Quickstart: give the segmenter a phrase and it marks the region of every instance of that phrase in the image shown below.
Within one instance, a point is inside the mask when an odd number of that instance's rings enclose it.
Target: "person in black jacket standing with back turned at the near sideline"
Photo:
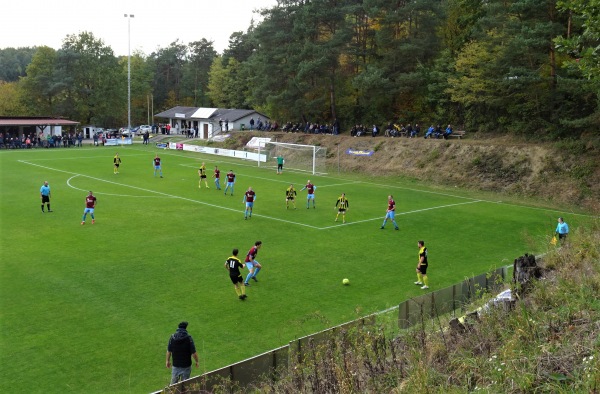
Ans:
[[[171,384],[190,378],[192,373],[192,357],[198,368],[198,353],[194,340],[187,332],[188,323],[179,323],[177,331],[169,338],[167,346],[167,368],[171,368],[171,356],[173,356],[173,370],[171,372]]]

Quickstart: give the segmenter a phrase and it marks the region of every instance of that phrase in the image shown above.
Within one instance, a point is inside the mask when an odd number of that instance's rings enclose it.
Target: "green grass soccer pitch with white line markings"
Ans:
[[[164,178],[153,176],[157,153]],[[210,189],[198,188],[202,162]],[[4,392],[158,390],[169,382],[166,345],[182,320],[200,354],[195,376],[421,294],[413,284],[420,239],[436,290],[545,251],[558,216],[571,229],[590,220],[401,178],[276,175],[248,161],[142,145],[2,151],[0,165]],[[223,189],[225,173],[235,172],[234,196],[215,190],[215,165]],[[316,209],[300,191],[308,179]],[[45,180],[52,213],[40,210]],[[285,207],[290,183],[296,210]],[[248,187],[257,199],[244,220]],[[82,226],[89,190],[96,223],[88,217]],[[342,192],[346,224],[334,222]],[[380,229],[389,194],[399,231]],[[240,301],[223,264],[256,240],[263,269]]]

